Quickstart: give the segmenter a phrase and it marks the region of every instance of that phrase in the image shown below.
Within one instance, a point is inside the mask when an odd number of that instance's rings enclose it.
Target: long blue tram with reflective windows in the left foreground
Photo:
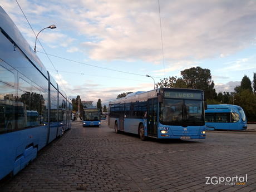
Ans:
[[[72,102],[0,6],[0,180],[71,128]]]

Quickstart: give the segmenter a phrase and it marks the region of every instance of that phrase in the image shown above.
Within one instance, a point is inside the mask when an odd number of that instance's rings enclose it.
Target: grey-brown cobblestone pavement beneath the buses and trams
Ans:
[[[75,122],[0,191],[256,191],[255,139],[218,131],[205,140],[141,141],[106,121]]]

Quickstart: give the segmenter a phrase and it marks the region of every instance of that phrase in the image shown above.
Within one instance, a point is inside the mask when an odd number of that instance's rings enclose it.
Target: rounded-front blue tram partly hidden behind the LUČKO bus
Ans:
[[[242,107],[237,105],[208,105],[205,110],[206,130],[245,130],[247,120]]]

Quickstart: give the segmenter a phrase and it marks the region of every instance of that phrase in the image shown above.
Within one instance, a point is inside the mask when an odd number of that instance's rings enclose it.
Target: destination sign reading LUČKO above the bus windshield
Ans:
[[[173,98],[173,99],[201,99],[201,92],[184,92],[184,91],[165,91],[165,98]]]

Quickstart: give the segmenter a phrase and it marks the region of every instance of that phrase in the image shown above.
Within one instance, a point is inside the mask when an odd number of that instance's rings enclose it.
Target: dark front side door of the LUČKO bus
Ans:
[[[158,99],[147,101],[147,135],[157,137],[157,108]]]

